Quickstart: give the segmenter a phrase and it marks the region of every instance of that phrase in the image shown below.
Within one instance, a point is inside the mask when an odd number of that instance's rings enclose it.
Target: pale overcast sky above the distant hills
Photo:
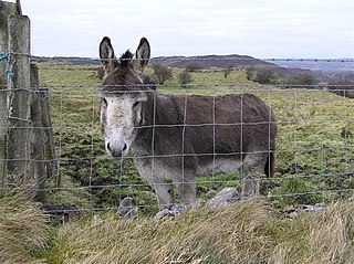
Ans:
[[[152,55],[354,57],[352,0],[22,0],[33,55],[97,57],[142,36]]]

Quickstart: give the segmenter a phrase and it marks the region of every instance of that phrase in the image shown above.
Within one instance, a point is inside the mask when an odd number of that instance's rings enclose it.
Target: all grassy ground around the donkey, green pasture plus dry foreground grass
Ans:
[[[353,99],[262,86],[247,81],[242,71],[228,78],[221,72],[192,73],[191,86],[170,81],[158,87],[164,94],[258,94],[274,109],[279,135],[275,176],[262,180],[262,200],[189,210],[157,222],[152,218],[158,210],[155,196],[133,162],[105,156],[95,66],[39,67],[41,86],[50,91],[62,178],[49,199],[75,204],[83,213],[52,225],[25,196],[1,197],[0,263],[354,263],[354,204],[347,201],[354,189]],[[202,177],[197,184],[205,199],[226,186],[240,188],[238,175]],[[121,219],[114,210],[125,197],[140,207],[135,220]],[[330,207],[295,219],[279,210],[317,202]]]

